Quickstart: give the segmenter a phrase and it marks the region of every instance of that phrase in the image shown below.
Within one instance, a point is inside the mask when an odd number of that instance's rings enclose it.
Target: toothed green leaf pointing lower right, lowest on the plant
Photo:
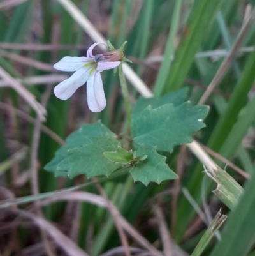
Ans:
[[[134,156],[148,157],[143,162],[137,162],[130,170],[134,181],[141,181],[145,186],[150,182],[157,184],[167,179],[178,179],[178,175],[166,164],[166,156],[161,156],[156,151],[156,147],[145,147],[140,145],[134,152]]]

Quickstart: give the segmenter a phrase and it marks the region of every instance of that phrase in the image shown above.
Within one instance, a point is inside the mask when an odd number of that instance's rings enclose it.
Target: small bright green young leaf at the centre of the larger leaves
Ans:
[[[113,152],[104,152],[104,156],[115,163],[121,163],[122,165],[126,165],[130,163],[133,158],[133,153],[130,151],[126,151],[125,149],[122,149],[122,147],[117,147],[116,151]]]

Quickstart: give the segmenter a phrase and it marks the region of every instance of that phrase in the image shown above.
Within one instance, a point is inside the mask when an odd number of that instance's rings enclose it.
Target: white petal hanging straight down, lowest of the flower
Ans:
[[[94,72],[87,80],[87,102],[92,112],[105,109],[106,99],[100,72]]]

